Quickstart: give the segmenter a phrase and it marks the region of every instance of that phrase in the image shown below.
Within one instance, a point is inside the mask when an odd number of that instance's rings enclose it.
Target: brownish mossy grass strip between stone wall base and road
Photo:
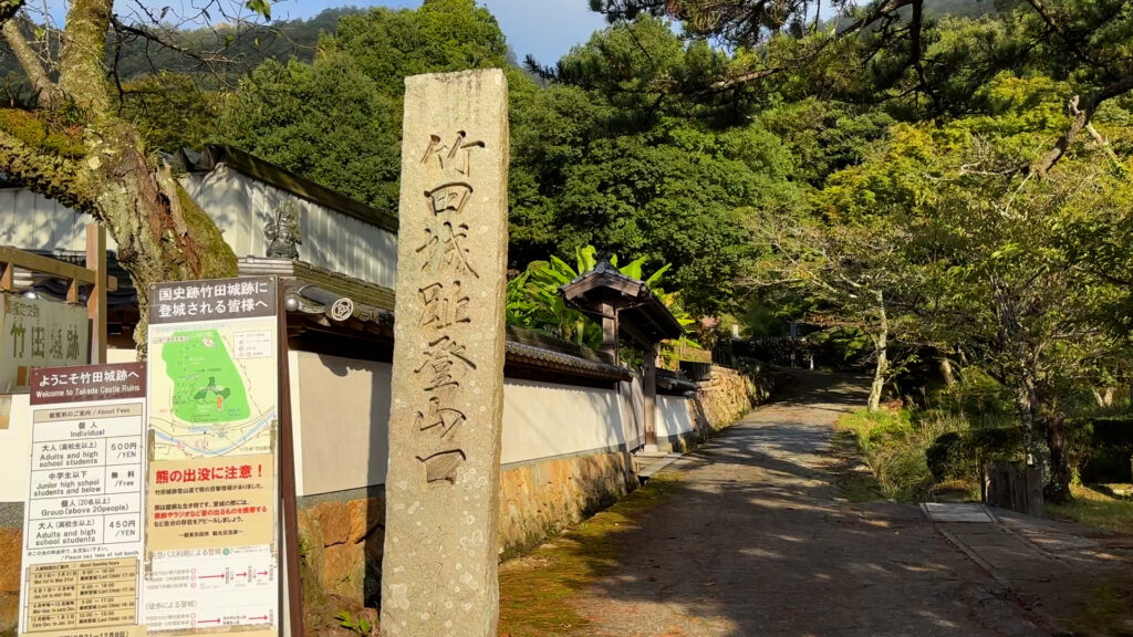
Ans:
[[[568,600],[625,558],[619,538],[675,489],[676,476],[653,477],[613,507],[500,569],[500,634],[511,637],[587,635]]]

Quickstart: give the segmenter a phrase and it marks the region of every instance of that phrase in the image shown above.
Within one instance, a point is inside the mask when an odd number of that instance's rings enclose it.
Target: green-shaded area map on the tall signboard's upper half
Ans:
[[[154,460],[270,453],[274,318],[153,325]]]

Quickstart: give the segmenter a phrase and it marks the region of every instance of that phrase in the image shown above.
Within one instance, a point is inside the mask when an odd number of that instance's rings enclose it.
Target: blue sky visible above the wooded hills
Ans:
[[[553,65],[574,44],[586,42],[605,18],[591,12],[587,0],[479,0],[500,22],[508,44],[522,61],[528,53],[542,65]],[[323,9],[342,6],[416,8],[420,0],[280,0],[274,18],[309,18]]]

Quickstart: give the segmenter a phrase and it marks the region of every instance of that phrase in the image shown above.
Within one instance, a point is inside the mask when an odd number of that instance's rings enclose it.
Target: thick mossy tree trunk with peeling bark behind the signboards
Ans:
[[[236,255],[135,127],[113,112],[103,66],[112,0],[73,0],[58,80],[36,82],[39,108],[0,109],[0,171],[29,189],[90,213],[118,243],[138,292],[135,332],[145,356],[148,289],[160,281],[236,274]],[[23,2],[0,1],[0,20]],[[5,28],[11,49],[19,29]],[[17,57],[19,58],[19,57]],[[39,63],[19,58],[25,66]],[[41,67],[28,77],[46,77]]]

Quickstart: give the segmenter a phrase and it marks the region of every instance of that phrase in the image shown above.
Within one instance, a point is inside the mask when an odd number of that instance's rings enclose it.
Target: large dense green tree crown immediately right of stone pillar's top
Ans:
[[[594,244],[672,263],[693,312],[735,306],[758,253],[750,220],[790,213],[801,196],[778,135],[725,117],[715,99],[680,97],[726,63],[653,18],[565,56],[556,83],[514,116],[513,263]]]

